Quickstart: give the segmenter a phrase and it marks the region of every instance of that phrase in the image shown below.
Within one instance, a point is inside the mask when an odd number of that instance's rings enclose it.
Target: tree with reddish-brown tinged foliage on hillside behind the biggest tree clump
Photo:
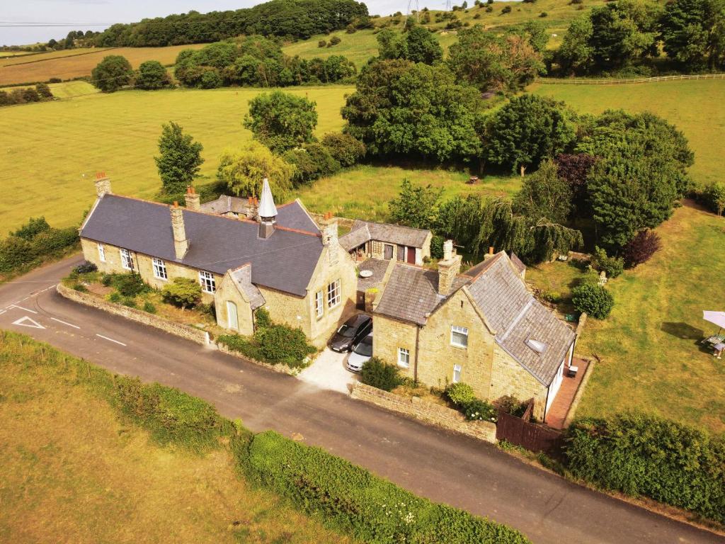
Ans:
[[[546,71],[532,36],[526,30],[498,35],[480,25],[460,30],[448,65],[481,91],[518,91]]]

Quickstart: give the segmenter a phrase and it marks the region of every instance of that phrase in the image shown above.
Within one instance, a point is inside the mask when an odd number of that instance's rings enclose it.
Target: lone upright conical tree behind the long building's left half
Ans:
[[[159,137],[159,156],[154,157],[161,178],[162,191],[167,195],[180,194],[199,175],[204,159],[204,146],[183,133],[181,125],[170,121],[162,125]]]

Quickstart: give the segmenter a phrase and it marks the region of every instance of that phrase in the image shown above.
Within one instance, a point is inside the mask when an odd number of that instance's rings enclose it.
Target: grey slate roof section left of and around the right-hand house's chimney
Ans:
[[[468,281],[471,279],[457,276],[450,294],[444,297],[438,294],[437,271],[396,263],[375,312],[425,325],[428,314]]]

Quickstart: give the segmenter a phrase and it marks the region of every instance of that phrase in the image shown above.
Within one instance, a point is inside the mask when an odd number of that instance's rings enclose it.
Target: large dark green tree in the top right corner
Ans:
[[[688,70],[725,65],[725,0],[673,0],[660,18],[663,48]]]

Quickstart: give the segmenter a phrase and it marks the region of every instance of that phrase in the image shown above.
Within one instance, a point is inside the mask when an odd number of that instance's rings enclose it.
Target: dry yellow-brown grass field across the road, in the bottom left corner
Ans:
[[[0,541],[347,543],[240,480],[231,456],[161,448],[37,347],[0,339]],[[83,380],[80,380],[81,382]]]

